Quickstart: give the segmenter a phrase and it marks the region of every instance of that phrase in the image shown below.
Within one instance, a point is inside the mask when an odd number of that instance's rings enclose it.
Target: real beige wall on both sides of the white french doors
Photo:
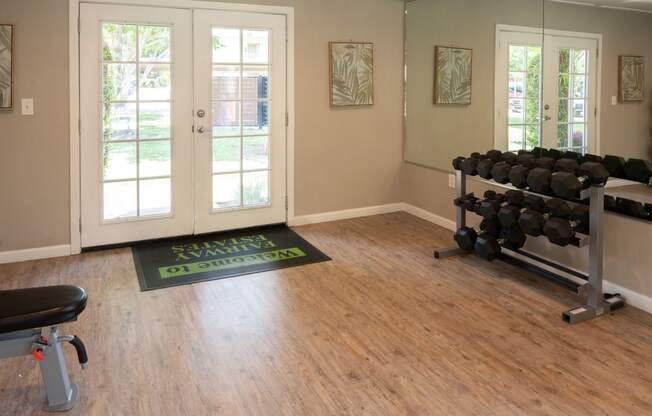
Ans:
[[[399,0],[247,1],[295,7],[296,215],[399,202],[403,4]],[[0,0],[16,24],[16,98],[0,114],[0,251],[69,242],[68,2]],[[375,104],[332,109],[328,42],[375,44]]]

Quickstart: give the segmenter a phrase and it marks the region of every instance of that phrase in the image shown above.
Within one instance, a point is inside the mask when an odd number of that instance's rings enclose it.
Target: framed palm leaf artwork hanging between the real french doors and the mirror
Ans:
[[[374,103],[373,54],[372,43],[330,43],[331,105]]]

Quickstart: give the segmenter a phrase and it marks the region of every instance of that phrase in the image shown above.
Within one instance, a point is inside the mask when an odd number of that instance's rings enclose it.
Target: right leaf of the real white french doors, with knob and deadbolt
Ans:
[[[285,17],[195,10],[195,232],[285,221]]]

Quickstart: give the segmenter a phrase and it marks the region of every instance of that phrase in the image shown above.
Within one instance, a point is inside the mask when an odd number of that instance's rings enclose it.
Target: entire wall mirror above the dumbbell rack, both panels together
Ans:
[[[583,4],[586,3],[586,4]],[[405,160],[535,146],[652,159],[652,4],[405,2]]]

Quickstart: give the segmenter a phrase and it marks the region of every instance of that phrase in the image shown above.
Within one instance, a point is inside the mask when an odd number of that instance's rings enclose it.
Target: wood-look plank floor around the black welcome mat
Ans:
[[[297,228],[326,263],[140,292],[129,249],[0,266],[0,289],[76,284],[77,415],[652,414],[652,315],[578,326],[577,300],[474,256],[408,214]],[[40,414],[28,357],[0,364],[0,414]]]

